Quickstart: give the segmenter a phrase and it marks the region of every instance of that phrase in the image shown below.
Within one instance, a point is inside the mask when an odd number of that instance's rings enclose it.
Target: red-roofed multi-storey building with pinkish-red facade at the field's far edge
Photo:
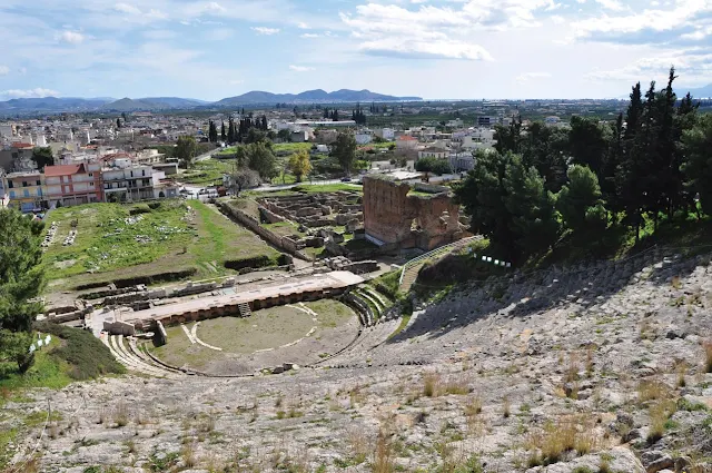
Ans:
[[[103,200],[99,162],[46,166],[44,186],[50,208]]]

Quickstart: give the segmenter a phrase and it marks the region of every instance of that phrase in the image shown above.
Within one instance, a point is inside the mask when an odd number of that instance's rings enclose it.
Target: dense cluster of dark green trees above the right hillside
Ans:
[[[479,152],[455,187],[473,231],[521,258],[568,234],[594,245],[623,226],[637,240],[646,220],[654,231],[662,219],[712,215],[712,117],[699,116],[690,95],[678,100],[675,79],[671,68],[662,89],[636,83],[609,124],[574,116],[565,131],[516,117],[497,126],[496,151]]]

